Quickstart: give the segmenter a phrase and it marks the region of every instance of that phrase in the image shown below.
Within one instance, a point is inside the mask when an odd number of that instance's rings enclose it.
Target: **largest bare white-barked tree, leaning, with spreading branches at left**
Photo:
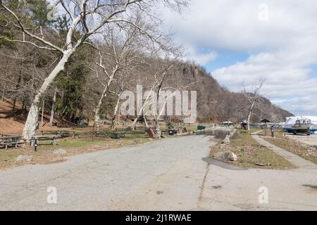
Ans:
[[[135,24],[134,20],[127,19],[127,14],[135,13],[135,11],[148,11],[151,15],[151,6],[154,6],[157,1],[153,0],[118,0],[118,1],[102,1],[102,0],[59,0],[57,5],[66,12],[70,19],[70,24],[67,27],[67,35],[63,40],[63,46],[54,44],[44,37],[42,27],[27,27],[23,23],[23,19],[18,16],[18,13],[9,8],[9,2],[1,0],[0,6],[11,15],[8,17],[8,24],[13,25],[13,29],[19,29],[23,34],[22,39],[9,39],[1,36],[7,41],[20,42],[30,44],[38,49],[46,49],[49,51],[57,51],[61,54],[55,68],[51,70],[49,75],[44,79],[42,86],[38,89],[35,98],[32,101],[27,121],[23,129],[25,139],[30,139],[35,134],[36,124],[39,115],[39,104],[47,89],[54,82],[58,73],[63,71],[69,58],[82,46],[82,44],[91,44],[89,37],[99,32],[101,27],[106,24],[115,23],[118,25],[130,24],[135,25],[137,29],[143,32],[142,27]],[[186,1],[182,0],[163,0],[163,3],[180,9],[186,5]],[[129,18],[129,17],[128,17]],[[132,17],[130,17],[132,18]]]

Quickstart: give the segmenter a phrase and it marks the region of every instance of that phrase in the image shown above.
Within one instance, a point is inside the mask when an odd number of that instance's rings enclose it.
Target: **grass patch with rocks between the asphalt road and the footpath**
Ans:
[[[273,150],[260,146],[251,136],[251,131],[238,131],[239,134],[231,139],[230,144],[218,143],[211,148],[211,157],[217,152],[231,151],[237,155],[237,162],[232,162],[240,167],[266,168],[266,169],[292,169],[294,166],[275,154]],[[263,165],[263,166],[259,166]]]

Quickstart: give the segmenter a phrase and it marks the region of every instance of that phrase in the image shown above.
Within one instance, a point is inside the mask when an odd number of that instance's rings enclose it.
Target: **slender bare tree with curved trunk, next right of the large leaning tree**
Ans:
[[[100,111],[109,89],[118,75],[122,72],[133,70],[135,65],[142,60],[142,34],[135,26],[107,27],[103,33],[104,43],[99,49],[99,61],[95,64],[96,77],[103,86],[102,94],[94,114],[94,130],[99,131]],[[126,77],[121,76],[121,79]],[[123,84],[121,82],[121,84]]]

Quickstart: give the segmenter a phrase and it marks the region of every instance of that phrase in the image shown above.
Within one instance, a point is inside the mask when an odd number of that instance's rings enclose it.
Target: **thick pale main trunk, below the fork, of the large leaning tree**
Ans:
[[[61,60],[58,62],[58,64],[56,65],[54,70],[51,72],[49,77],[47,77],[44,80],[44,83],[42,84],[41,88],[37,92],[32,102],[32,105],[30,107],[29,113],[27,115],[27,120],[25,122],[25,126],[23,129],[23,137],[25,139],[30,140],[32,135],[35,135],[36,125],[39,118],[39,103],[41,102],[41,98],[46,93],[46,90],[54,81],[58,73],[64,70],[66,63],[68,62],[68,59],[74,52],[75,52],[75,49],[69,49],[68,51],[64,53]]]

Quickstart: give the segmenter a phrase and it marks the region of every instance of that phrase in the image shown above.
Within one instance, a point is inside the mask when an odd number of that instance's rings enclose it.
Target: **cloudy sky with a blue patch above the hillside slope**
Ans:
[[[263,94],[295,115],[317,115],[316,0],[192,0],[164,11],[187,59],[231,91],[266,79]]]

